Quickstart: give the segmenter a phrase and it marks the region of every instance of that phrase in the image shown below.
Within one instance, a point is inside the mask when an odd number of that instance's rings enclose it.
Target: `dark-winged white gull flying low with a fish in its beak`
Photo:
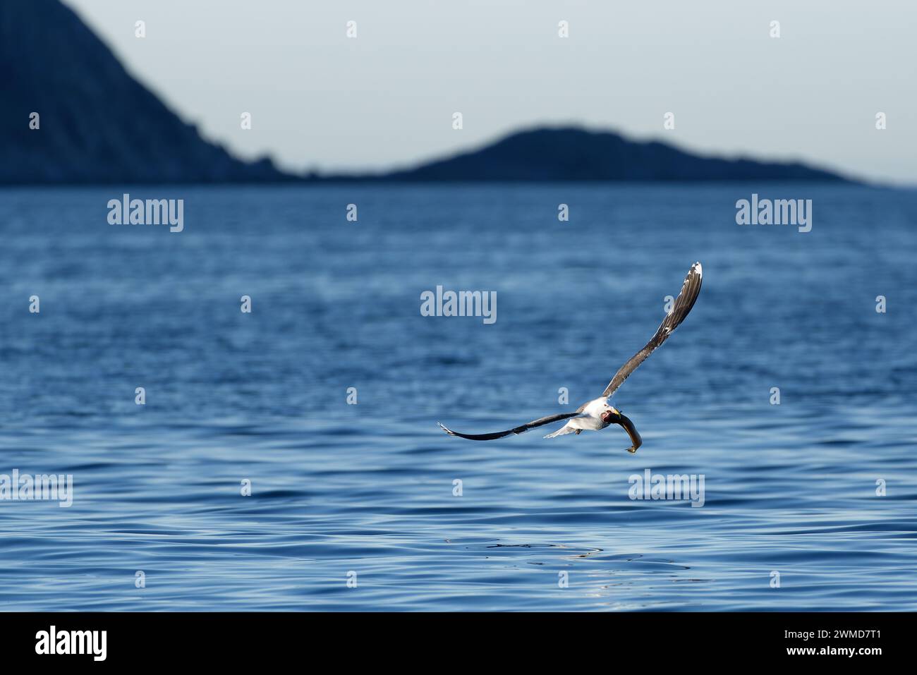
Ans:
[[[599,431],[606,426],[614,424],[624,428],[624,431],[627,432],[627,436],[630,437],[631,447],[627,448],[627,451],[636,452],[636,448],[643,445],[643,439],[640,437],[640,434],[637,433],[634,423],[623,415],[620,410],[609,405],[608,399],[611,398],[612,394],[621,386],[622,382],[636,370],[636,367],[643,363],[659,345],[668,339],[672,331],[675,330],[675,328],[684,321],[685,316],[691,312],[691,307],[694,306],[698,294],[701,293],[702,275],[703,269],[700,262],[695,262],[691,265],[691,270],[688,271],[688,276],[685,277],[684,283],[681,284],[681,291],[679,292],[679,296],[675,299],[675,304],[672,305],[671,312],[662,320],[662,324],[659,326],[656,334],[650,338],[643,349],[640,349],[640,351],[618,369],[612,378],[612,382],[608,383],[608,386],[605,387],[605,391],[602,392],[599,398],[592,399],[580,405],[576,412],[547,415],[547,417],[541,417],[525,425],[516,426],[506,431],[497,431],[492,434],[460,434],[458,431],[453,431],[439,422],[436,422],[436,424],[449,436],[470,438],[470,440],[494,440],[496,438],[524,434],[529,429],[534,429],[537,426],[549,425],[552,422],[559,422],[564,419],[567,420],[567,424],[561,426],[553,434],[548,434],[546,438],[554,438],[566,434],[580,434],[585,430]]]

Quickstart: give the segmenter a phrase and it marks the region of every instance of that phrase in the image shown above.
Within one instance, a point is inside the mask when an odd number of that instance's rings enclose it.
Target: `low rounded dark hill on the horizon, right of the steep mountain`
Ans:
[[[329,177],[346,180],[348,177]],[[349,180],[435,181],[812,181],[844,182],[799,162],[702,157],[658,141],[579,127],[535,128],[414,169]]]

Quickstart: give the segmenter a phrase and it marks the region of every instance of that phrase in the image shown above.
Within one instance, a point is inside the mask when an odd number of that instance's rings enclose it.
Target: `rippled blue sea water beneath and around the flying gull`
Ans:
[[[122,192],[0,192],[0,474],[73,477],[69,508],[0,501],[3,609],[917,609],[917,194],[131,187],[185,200],[173,234],[108,225]],[[736,225],[752,193],[812,231]],[[613,399],[636,454],[436,427],[598,396],[694,260]],[[496,322],[421,315],[437,285]],[[702,507],[632,500],[647,469]]]

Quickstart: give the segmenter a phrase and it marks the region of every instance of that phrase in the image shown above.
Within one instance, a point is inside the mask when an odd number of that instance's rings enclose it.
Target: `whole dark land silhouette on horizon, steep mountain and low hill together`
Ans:
[[[702,157],[579,127],[520,131],[413,169],[296,175],[201,138],[60,0],[0,3],[0,36],[0,184],[849,180],[799,162]]]

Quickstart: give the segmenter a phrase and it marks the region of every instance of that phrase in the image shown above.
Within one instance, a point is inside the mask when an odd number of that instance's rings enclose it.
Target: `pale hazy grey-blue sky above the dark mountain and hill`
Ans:
[[[574,122],[917,183],[911,0],[66,4],[206,138],[295,170],[406,165]]]

